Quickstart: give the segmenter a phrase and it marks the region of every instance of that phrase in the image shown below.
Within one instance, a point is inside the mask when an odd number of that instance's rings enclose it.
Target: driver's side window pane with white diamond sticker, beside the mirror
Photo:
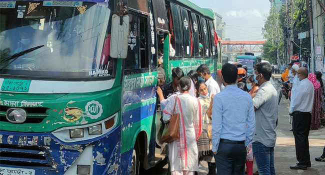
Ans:
[[[138,17],[131,13],[128,13],[128,16],[130,18],[130,22],[129,22],[130,33],[128,35],[128,49],[127,49],[127,57],[124,62],[124,68],[125,69],[139,68]]]

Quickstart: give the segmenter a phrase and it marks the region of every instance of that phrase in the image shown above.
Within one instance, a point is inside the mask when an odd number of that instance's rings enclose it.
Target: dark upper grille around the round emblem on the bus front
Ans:
[[[5,113],[10,108],[9,106],[0,105],[0,121],[9,122]],[[40,123],[47,117],[46,107],[20,107],[27,111],[26,121],[24,123]]]

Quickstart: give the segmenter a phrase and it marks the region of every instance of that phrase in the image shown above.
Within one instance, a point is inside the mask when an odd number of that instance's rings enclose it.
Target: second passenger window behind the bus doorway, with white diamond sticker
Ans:
[[[184,33],[184,55],[190,56],[191,55],[191,45],[190,45],[190,31],[189,31],[189,20],[188,20],[188,13],[187,10],[183,7],[180,8],[181,10],[181,19],[183,22],[183,33]]]

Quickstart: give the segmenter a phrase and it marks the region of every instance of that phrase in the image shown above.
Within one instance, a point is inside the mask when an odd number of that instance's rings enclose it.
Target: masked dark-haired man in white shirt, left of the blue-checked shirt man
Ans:
[[[210,97],[212,94],[217,94],[220,92],[220,87],[218,83],[212,78],[210,73],[210,68],[206,64],[201,64],[196,69],[197,72],[197,80],[205,81],[207,92]]]

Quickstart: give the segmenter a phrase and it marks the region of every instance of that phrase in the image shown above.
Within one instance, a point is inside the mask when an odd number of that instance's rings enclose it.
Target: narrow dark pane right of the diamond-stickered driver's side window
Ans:
[[[140,64],[141,68],[149,67],[147,48],[147,18],[139,17],[140,19]]]

